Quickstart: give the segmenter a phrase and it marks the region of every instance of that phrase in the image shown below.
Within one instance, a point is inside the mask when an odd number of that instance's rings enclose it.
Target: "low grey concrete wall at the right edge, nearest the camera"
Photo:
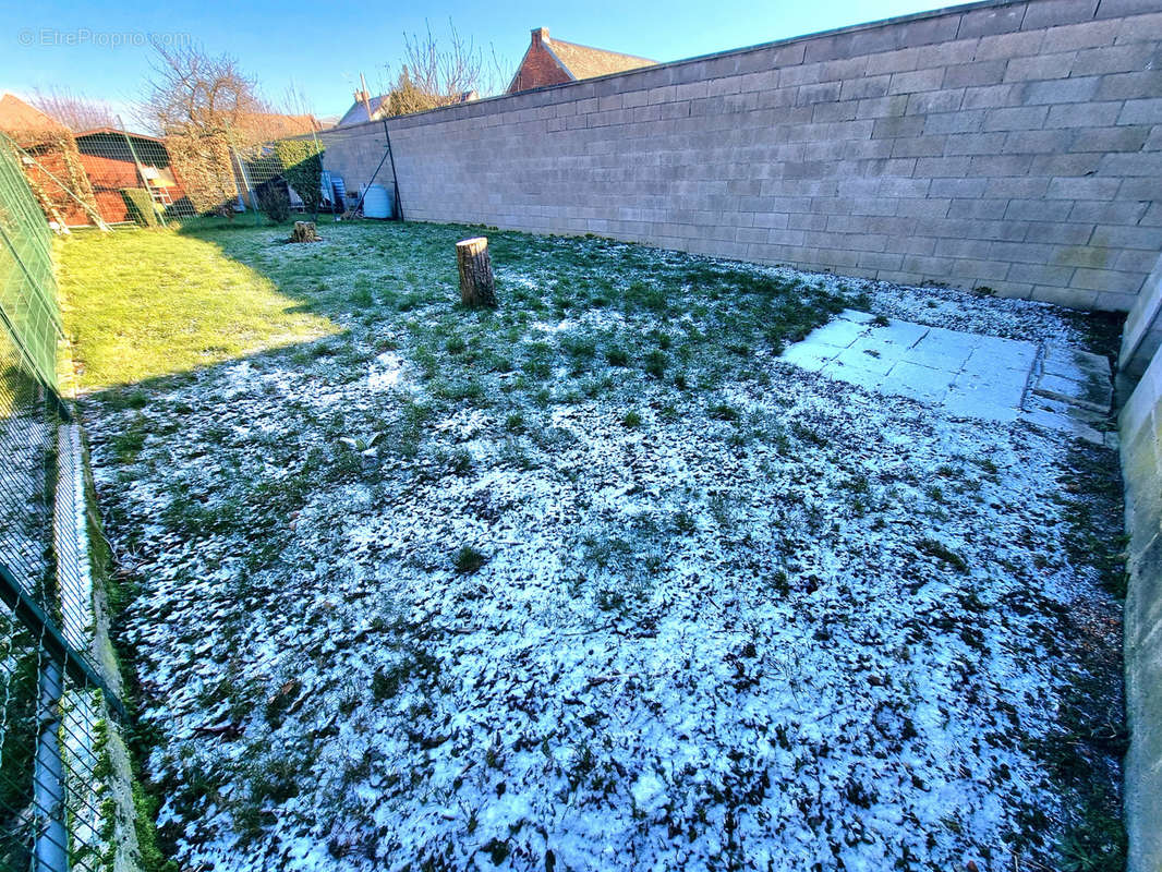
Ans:
[[[1162,355],[1119,416],[1129,533],[1126,829],[1129,872],[1162,869]]]

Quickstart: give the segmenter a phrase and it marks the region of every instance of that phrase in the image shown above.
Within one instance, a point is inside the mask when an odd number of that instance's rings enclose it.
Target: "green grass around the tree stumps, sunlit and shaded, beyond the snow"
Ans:
[[[529,420],[509,430],[532,431],[530,403],[660,389],[673,392],[662,405],[677,409],[680,392],[761,379],[755,355],[777,353],[844,308],[822,286],[741,264],[485,230],[501,306],[468,312],[454,245],[481,230],[324,224],[313,245],[287,244],[286,227],[213,221],[77,235],[57,255],[78,385],[119,388],[103,399],[142,413],[143,426],[115,446],[125,463],[157,435],[151,380],[244,357],[344,383],[394,350],[425,383],[432,414],[465,405],[502,420],[523,414]],[[540,329],[595,313],[611,317]],[[718,412],[730,420],[733,410]],[[423,427],[404,429],[390,443],[414,455]]]

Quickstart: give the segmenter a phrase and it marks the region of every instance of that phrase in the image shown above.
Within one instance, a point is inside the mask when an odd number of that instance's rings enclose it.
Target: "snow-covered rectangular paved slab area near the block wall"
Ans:
[[[957,417],[1026,420],[1097,444],[1109,430],[1110,362],[1077,349],[927,327],[848,309],[782,359],[830,378],[942,406]]]

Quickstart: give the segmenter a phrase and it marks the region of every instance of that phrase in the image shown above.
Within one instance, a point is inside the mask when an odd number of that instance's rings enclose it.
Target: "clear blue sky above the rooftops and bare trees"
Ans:
[[[292,85],[310,110],[342,114],[360,72],[373,87],[385,64],[396,66],[403,34],[437,37],[451,19],[486,52],[495,50],[510,74],[529,43],[529,30],[603,49],[676,60],[846,24],[934,8],[932,0],[666,0],[537,3],[468,0],[375,3],[340,0],[0,0],[0,92],[31,95],[65,88],[109,101],[129,114],[149,76],[149,33],[188,35],[213,52],[230,52],[260,83],[284,98]],[[78,44],[80,43],[80,44]],[[396,67],[397,69],[397,67]],[[129,122],[129,119],[125,119]]]

